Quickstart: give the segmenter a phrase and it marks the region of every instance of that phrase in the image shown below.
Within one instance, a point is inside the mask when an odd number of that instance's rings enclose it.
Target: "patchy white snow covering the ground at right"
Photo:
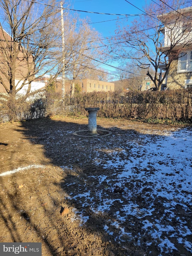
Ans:
[[[106,173],[97,176],[93,172],[84,186],[79,185],[79,193],[71,190],[69,200],[78,200],[94,214],[113,211],[113,218],[103,228],[119,242],[153,244],[159,255],[178,250],[177,245],[182,244],[192,253],[192,243],[187,240],[192,225],[185,218],[192,214],[192,131],[184,128],[138,136],[119,136],[119,141],[103,148],[93,146],[95,158],[91,160],[90,155],[91,164]],[[86,186],[90,180],[95,193]],[[73,211],[73,221],[79,219],[81,225],[85,224],[89,216],[83,210]],[[136,224],[139,230],[134,230]]]

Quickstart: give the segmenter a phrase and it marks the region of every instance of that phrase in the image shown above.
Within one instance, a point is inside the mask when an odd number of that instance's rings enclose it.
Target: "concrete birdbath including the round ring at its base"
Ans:
[[[73,132],[73,135],[80,137],[104,137],[112,134],[111,131],[97,129],[97,112],[99,107],[87,107],[88,111],[88,130],[80,130]]]

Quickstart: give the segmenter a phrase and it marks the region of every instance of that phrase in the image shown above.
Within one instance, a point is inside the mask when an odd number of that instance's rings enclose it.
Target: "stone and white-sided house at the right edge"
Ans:
[[[164,89],[192,88],[192,7],[162,14],[159,18],[164,23],[161,50],[169,50],[173,40],[176,44]],[[160,65],[160,73],[165,70],[166,65]]]

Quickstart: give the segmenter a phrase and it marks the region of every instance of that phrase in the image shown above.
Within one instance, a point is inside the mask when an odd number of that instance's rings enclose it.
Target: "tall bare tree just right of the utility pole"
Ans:
[[[79,24],[80,23],[80,24]],[[71,95],[74,95],[75,80],[84,77],[95,77],[99,62],[96,59],[104,54],[100,46],[100,35],[88,25],[88,20],[77,17],[70,22],[69,33],[66,36],[66,48],[69,51],[67,77],[73,80]]]

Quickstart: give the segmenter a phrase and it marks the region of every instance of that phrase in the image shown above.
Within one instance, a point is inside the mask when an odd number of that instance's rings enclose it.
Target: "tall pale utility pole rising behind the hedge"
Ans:
[[[63,20],[63,3],[61,2],[61,38],[62,38],[62,98],[65,96],[65,37]]]

